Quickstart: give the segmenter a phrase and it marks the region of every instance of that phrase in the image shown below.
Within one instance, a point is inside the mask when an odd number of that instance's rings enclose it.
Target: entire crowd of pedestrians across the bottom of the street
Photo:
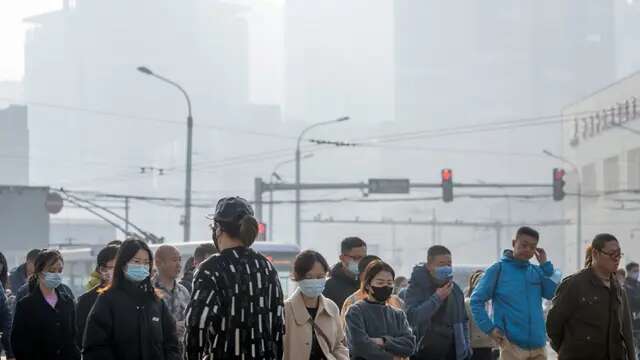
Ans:
[[[544,360],[549,345],[560,360],[636,360],[640,265],[618,271],[610,234],[595,236],[585,268],[561,281],[538,232],[522,227],[468,284],[454,281],[445,246],[430,247],[407,279],[348,237],[333,267],[299,253],[297,288],[285,294],[251,248],[258,222],[246,200],[221,199],[211,232],[184,267],[170,245],[107,244],[77,301],[59,251],[31,250],[11,271],[0,253],[7,359]]]

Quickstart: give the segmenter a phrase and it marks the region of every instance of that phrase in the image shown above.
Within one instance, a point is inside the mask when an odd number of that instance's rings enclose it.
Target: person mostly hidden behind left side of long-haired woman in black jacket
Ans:
[[[116,263],[116,255],[118,255],[118,246],[107,246],[102,248],[98,253],[97,265],[95,273],[100,275],[100,283],[96,284],[91,290],[78,297],[76,305],[76,343],[82,348],[82,337],[84,336],[84,328],[89,316],[89,311],[98,298],[98,291],[111,285],[113,279],[113,269]]]

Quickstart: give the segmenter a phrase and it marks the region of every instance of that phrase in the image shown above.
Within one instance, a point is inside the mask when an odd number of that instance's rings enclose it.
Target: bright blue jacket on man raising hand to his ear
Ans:
[[[507,339],[523,349],[544,347],[547,342],[542,298],[551,299],[557,284],[551,280],[553,265],[542,266],[513,257],[506,250],[491,265],[471,294],[471,313],[483,332],[498,328]],[[485,303],[492,301],[493,319]]]

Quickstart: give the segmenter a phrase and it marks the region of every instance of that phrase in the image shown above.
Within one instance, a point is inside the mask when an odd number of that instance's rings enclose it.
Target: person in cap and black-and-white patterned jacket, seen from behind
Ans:
[[[253,209],[243,198],[223,198],[212,220],[220,252],[193,280],[185,359],[280,360],[284,294],[276,268],[251,249],[258,236]]]

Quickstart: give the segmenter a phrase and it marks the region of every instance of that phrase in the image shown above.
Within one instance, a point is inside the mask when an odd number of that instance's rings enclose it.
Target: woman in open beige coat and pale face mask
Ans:
[[[296,292],[285,301],[284,360],[348,360],[338,307],[322,295],[329,265],[313,250],[293,264]]]

